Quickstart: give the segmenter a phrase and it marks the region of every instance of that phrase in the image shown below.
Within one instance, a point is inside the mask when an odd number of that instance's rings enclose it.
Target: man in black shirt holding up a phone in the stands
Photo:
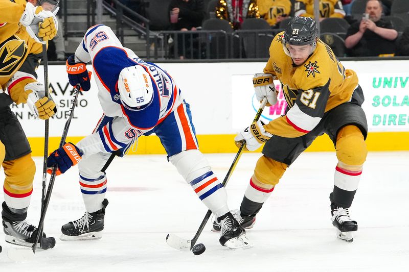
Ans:
[[[382,16],[380,0],[368,0],[366,10],[368,18],[351,24],[345,38],[348,55],[354,57],[394,54],[398,32],[390,21]]]

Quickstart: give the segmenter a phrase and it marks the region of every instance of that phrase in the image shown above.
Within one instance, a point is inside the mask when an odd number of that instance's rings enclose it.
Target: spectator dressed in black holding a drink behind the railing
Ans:
[[[201,26],[205,14],[203,0],[172,0],[169,4],[169,16],[173,30],[195,31]],[[190,54],[191,38],[191,35],[177,35],[177,52],[180,59],[186,57],[183,52],[184,46],[186,55]]]

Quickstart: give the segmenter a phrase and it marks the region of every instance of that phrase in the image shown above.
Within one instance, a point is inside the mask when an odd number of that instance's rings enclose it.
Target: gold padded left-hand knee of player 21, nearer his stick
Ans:
[[[254,169],[253,182],[260,183],[256,185],[262,188],[271,187],[271,185],[274,187],[286,169],[287,164],[262,156],[257,161],[256,168]]]

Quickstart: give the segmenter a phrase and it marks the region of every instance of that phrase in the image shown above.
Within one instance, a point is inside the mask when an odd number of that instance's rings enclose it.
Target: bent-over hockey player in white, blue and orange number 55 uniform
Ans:
[[[66,62],[70,84],[89,90],[85,63],[91,61],[104,114],[93,134],[76,144],[66,143],[48,158],[48,166],[65,172],[77,164],[85,214],[62,226],[62,240],[97,239],[104,228],[107,187],[101,169],[112,152],[125,152],[142,135],[155,133],[199,199],[221,221],[220,243],[244,247],[245,231],[229,212],[226,191],[198,150],[189,104],[171,76],[124,48],[107,26],[85,33],[75,55]],[[81,160],[82,157],[82,160]]]

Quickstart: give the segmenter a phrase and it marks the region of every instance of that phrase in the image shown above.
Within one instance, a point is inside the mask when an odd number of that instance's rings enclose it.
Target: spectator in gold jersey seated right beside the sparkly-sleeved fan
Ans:
[[[271,27],[277,27],[280,22],[291,13],[290,0],[257,0],[260,16],[263,17]]]

